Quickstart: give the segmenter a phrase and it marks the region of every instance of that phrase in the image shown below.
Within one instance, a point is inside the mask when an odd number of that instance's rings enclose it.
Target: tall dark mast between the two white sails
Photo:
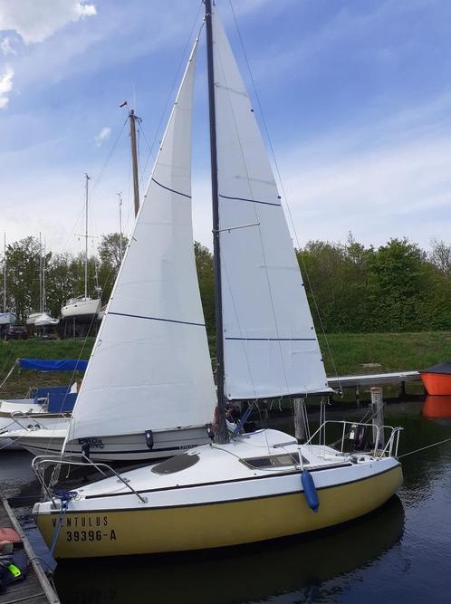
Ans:
[[[216,443],[228,442],[226,426],[226,399],[224,397],[224,340],[223,311],[221,292],[221,252],[219,238],[219,203],[217,190],[217,157],[216,157],[216,107],[215,107],[215,66],[213,60],[213,24],[212,0],[206,4],[206,62],[208,71],[208,112],[210,117],[210,161],[211,193],[213,203],[213,256],[215,263],[215,315],[216,315],[216,382],[217,382],[217,416],[215,428]]]

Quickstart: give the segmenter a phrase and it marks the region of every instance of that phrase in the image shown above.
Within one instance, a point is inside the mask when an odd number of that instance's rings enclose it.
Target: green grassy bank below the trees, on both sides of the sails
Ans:
[[[408,369],[425,369],[442,360],[451,360],[451,332],[422,333],[331,333],[327,336],[331,354],[320,336],[321,350],[324,353],[326,372],[335,375],[332,358],[337,373],[355,375],[365,373],[385,373]],[[14,360],[19,357],[35,359],[88,359],[93,338],[80,340],[11,340],[0,341],[0,383]],[[213,343],[213,342],[212,342]],[[365,367],[366,363],[378,366]],[[14,370],[0,390],[3,398],[25,396],[34,386],[70,384],[82,379],[82,374],[37,373],[35,371]]]

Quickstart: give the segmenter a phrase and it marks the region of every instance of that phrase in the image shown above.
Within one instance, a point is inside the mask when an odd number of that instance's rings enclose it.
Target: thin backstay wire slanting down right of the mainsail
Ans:
[[[266,120],[264,119],[264,111],[263,111],[262,104],[261,104],[261,102],[260,102],[260,97],[259,97],[259,95],[258,95],[258,91],[257,91],[256,85],[255,85],[254,76],[253,76],[253,73],[252,73],[252,70],[251,70],[251,66],[250,66],[250,63],[249,63],[249,59],[248,59],[248,57],[247,57],[247,53],[246,53],[246,51],[245,51],[245,43],[244,43],[244,40],[243,40],[243,36],[241,35],[240,28],[239,28],[239,26],[238,26],[238,21],[237,21],[237,19],[236,19],[235,9],[234,9],[234,5],[233,5],[232,0],[229,0],[229,4],[230,4],[230,7],[231,7],[231,9],[232,9],[232,14],[233,14],[233,16],[234,16],[234,21],[235,21],[236,31],[237,31],[237,33],[238,33],[238,37],[239,37],[239,40],[240,40],[240,43],[241,43],[241,47],[242,47],[242,49],[243,49],[243,53],[244,53],[244,55],[245,55],[245,62],[246,62],[247,70],[248,70],[249,75],[250,75],[250,78],[251,78],[252,86],[253,86],[253,89],[254,89],[254,95],[255,95],[255,99],[256,99],[256,101],[257,101],[257,105],[258,105],[258,109],[259,109],[259,111],[260,111],[260,115],[261,115],[261,117],[262,117],[262,123],[263,123],[263,125],[264,125],[264,132],[265,132],[265,134],[266,134],[266,138],[267,138],[267,140],[268,140],[269,148],[270,148],[270,150],[271,150],[271,155],[272,155],[272,157],[273,157],[273,163],[274,163],[274,167],[275,167],[276,172],[277,172],[277,177],[279,178],[279,182],[280,182],[280,186],[281,186],[281,189],[282,189],[282,194],[283,194],[283,199],[284,199],[284,201],[285,201],[285,206],[286,206],[286,208],[287,208],[288,215],[289,215],[289,217],[290,217],[290,223],[291,223],[291,225],[292,225],[292,229],[293,229],[293,235],[294,235],[295,240],[296,240],[297,249],[298,249],[298,250],[301,250],[301,244],[300,244],[300,242],[299,242],[299,237],[298,237],[298,234],[297,234],[297,231],[296,231],[296,227],[295,227],[295,225],[294,225],[294,220],[293,220],[293,214],[292,214],[292,210],[291,210],[290,204],[289,204],[289,202],[288,202],[288,197],[287,197],[287,195],[286,195],[285,187],[283,186],[283,179],[282,179],[281,170],[280,170],[280,168],[279,168],[279,164],[278,164],[278,162],[277,162],[277,158],[275,157],[275,152],[274,152],[274,149],[273,149],[273,143],[272,143],[272,139],[271,139],[270,134],[269,134],[269,129],[268,129],[268,126],[267,126],[267,124],[266,124]],[[327,348],[327,350],[328,350],[328,352],[329,352],[329,356],[330,356],[330,358],[331,358],[331,363],[332,363],[332,367],[333,367],[333,372],[334,372],[334,374],[335,374],[336,378],[339,380],[339,388],[340,388],[340,393],[341,393],[341,395],[342,395],[343,390],[342,390],[342,388],[341,388],[340,376],[338,375],[337,367],[336,367],[336,365],[335,365],[335,360],[333,359],[333,356],[332,356],[332,353],[331,353],[331,346],[330,346],[330,343],[329,343],[329,340],[328,340],[327,334],[326,334],[326,332],[325,332],[325,330],[324,330],[324,325],[323,325],[322,318],[321,318],[321,312],[320,312],[320,308],[319,308],[319,306],[318,306],[318,302],[317,302],[317,300],[316,300],[315,293],[314,293],[314,291],[313,291],[313,289],[312,289],[312,282],[311,282],[311,280],[310,280],[310,276],[309,276],[309,273],[308,273],[308,271],[307,271],[307,267],[305,266],[305,263],[304,263],[304,262],[303,262],[303,260],[302,260],[302,255],[301,255],[301,264],[302,264],[302,271],[303,271],[303,273],[305,274],[305,276],[306,276],[306,278],[307,278],[307,283],[309,284],[310,291],[312,292],[312,300],[313,300],[313,303],[314,303],[315,312],[316,312],[316,314],[317,314],[317,316],[318,316],[318,321],[320,321],[321,332],[322,332],[322,334],[323,334],[323,336],[324,336],[324,340],[325,340],[325,342],[326,342],[326,348]]]

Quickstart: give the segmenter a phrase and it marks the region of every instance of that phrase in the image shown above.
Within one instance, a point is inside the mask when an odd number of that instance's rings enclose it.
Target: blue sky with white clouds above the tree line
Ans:
[[[217,0],[258,93],[294,244],[451,241],[449,0]],[[127,100],[142,193],[200,0],[0,0],[0,234],[54,252],[132,225]],[[247,68],[247,62],[251,73]],[[251,78],[252,76],[252,78]],[[262,115],[256,111],[263,123]],[[193,215],[211,247],[205,47],[197,61]],[[150,153],[152,149],[152,153]],[[278,177],[277,177],[278,178]]]

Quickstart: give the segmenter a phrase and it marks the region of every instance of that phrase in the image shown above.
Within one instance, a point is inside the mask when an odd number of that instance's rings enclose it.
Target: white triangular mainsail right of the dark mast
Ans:
[[[216,12],[213,39],[226,397],[324,391],[321,351],[273,171]]]

